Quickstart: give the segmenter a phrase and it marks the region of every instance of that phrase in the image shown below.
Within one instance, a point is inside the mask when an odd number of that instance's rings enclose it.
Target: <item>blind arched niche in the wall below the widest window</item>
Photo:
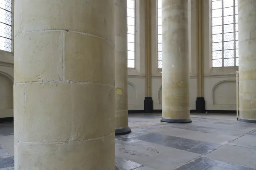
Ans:
[[[236,105],[236,81],[224,80],[215,84],[212,101],[215,105]]]

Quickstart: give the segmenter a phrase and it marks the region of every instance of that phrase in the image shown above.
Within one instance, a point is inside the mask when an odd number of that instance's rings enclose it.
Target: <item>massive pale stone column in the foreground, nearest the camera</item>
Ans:
[[[15,1],[15,170],[114,170],[113,0]]]

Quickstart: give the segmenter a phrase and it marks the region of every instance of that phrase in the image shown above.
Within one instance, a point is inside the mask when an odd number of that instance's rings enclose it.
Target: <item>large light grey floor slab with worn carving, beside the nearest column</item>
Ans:
[[[116,144],[116,155],[156,170],[171,170],[197,158],[200,154],[145,141]]]

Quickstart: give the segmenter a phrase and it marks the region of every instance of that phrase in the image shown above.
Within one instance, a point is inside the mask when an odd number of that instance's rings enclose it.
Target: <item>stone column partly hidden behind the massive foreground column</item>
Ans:
[[[127,95],[127,0],[115,0],[115,111],[116,135],[131,133]]]

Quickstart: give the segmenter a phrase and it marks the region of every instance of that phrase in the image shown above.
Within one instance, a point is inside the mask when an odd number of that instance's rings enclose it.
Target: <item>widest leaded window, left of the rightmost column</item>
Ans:
[[[212,67],[238,66],[237,0],[212,0]]]

